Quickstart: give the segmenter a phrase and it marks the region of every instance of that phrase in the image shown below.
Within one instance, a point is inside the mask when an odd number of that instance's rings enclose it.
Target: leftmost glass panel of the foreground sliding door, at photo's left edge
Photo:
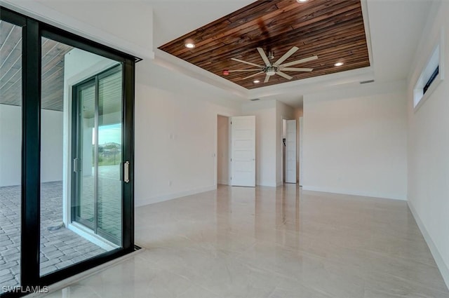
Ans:
[[[4,291],[20,285],[21,152],[22,27],[0,20],[0,289]]]

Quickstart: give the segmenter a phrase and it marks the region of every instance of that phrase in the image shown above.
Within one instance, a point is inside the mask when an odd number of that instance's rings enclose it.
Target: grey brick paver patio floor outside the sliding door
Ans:
[[[41,184],[41,275],[105,252],[62,224],[62,182]],[[0,286],[20,280],[20,186],[0,187]]]

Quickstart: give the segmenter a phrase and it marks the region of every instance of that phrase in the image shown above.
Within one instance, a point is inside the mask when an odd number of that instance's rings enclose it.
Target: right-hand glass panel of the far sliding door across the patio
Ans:
[[[98,231],[121,244],[121,66],[98,78]]]

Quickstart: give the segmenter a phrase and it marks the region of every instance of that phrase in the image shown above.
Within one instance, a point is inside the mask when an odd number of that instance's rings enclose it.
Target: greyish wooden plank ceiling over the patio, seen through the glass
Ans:
[[[22,28],[0,20],[0,104],[22,105]],[[42,109],[62,111],[64,55],[72,50],[42,39]]]

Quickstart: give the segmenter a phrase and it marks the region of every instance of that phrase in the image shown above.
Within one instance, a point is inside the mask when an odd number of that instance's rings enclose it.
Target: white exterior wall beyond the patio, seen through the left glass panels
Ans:
[[[41,182],[62,180],[62,112],[41,111]],[[21,184],[22,108],[0,104],[0,187]]]

